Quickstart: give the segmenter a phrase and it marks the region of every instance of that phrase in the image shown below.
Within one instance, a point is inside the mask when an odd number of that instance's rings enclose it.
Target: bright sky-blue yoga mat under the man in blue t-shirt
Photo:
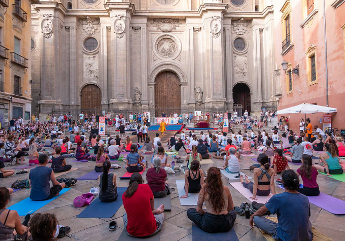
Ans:
[[[21,200],[20,202],[13,204],[8,209],[17,211],[19,216],[32,214],[33,212],[36,212],[37,210],[41,209],[43,206],[47,205],[52,200],[55,200],[56,198],[58,198],[59,196],[61,196],[63,193],[67,192],[70,189],[71,188],[63,188],[60,191],[60,194],[58,196],[53,197],[52,199],[49,199],[49,200],[44,200],[44,201],[32,201],[30,197],[27,197],[24,200]]]

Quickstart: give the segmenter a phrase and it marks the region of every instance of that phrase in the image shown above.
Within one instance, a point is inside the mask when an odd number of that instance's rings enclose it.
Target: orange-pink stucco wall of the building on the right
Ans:
[[[299,77],[293,75],[293,91],[288,93],[286,74],[281,70],[282,98],[279,102],[278,110],[288,108],[307,102],[326,106],[326,67],[325,67],[325,39],[324,39],[324,19],[323,1],[315,0],[315,9],[319,12],[314,16],[314,21],[310,21],[308,26],[300,27],[300,24],[307,17],[306,4],[304,0],[290,1],[290,31],[291,42],[294,47],[282,56],[282,9],[285,0],[274,1],[274,24],[275,24],[275,61],[277,67],[281,67],[283,60],[291,62],[292,68],[299,64]],[[306,0],[305,0],[306,2]],[[328,90],[329,107],[337,108],[338,112],[333,114],[333,127],[345,129],[345,53],[344,53],[344,29],[345,24],[345,3],[338,8],[331,7],[334,1],[326,1],[326,30],[328,48]],[[306,52],[310,44],[316,46],[316,67],[317,84],[308,86],[308,60]],[[304,118],[304,114],[285,115],[290,116],[290,129],[299,132],[299,119]],[[307,115],[312,120],[313,126],[318,124],[322,113]]]

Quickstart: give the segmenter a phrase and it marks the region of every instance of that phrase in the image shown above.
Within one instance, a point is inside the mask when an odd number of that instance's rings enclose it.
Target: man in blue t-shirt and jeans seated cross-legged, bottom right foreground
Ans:
[[[250,225],[270,234],[281,241],[312,241],[312,223],[309,221],[308,198],[299,193],[299,179],[294,170],[282,173],[285,192],[272,196],[269,201],[250,218]],[[267,211],[277,214],[278,223],[261,217]]]

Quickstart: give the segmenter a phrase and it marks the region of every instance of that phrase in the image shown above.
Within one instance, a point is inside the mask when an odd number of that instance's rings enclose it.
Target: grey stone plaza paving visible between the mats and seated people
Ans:
[[[150,132],[150,136],[153,140],[153,135],[156,132]],[[166,133],[163,141],[167,137],[170,136],[171,133]],[[133,142],[136,141],[136,138],[132,140]],[[166,149],[166,142],[164,143],[164,147]],[[47,149],[50,150],[50,149]],[[254,154],[259,154],[259,152],[254,151]],[[186,153],[184,151],[180,151],[180,155],[182,157],[186,157]],[[151,160],[152,155],[145,156],[146,159]],[[255,162],[251,160],[253,157],[241,157],[240,167],[246,168],[241,169],[243,173],[248,176],[253,177],[253,173],[251,173],[248,168],[250,165],[254,164]],[[73,159],[67,159],[67,163],[72,161]],[[224,161],[217,160],[212,158],[215,164],[202,164],[202,169],[206,171],[211,166],[221,166]],[[27,160],[26,160],[27,161]],[[317,160],[314,160],[316,162]],[[171,162],[171,157],[168,159],[168,162]],[[59,178],[77,178],[83,176],[94,169],[95,162],[73,162],[70,163],[73,167],[77,167],[79,169],[72,171],[66,175],[60,176]],[[122,166],[124,165],[123,162],[120,162]],[[186,164],[186,163],[184,163]],[[50,164],[48,165],[50,166]],[[299,166],[290,164],[290,168],[296,170]],[[5,168],[10,169],[10,168]],[[16,172],[18,169],[16,169]],[[125,168],[120,169],[112,169],[112,173],[117,175],[117,186],[118,187],[127,187],[128,180],[120,180],[119,177],[125,173]],[[145,179],[146,171],[144,172],[143,178]],[[230,184],[227,178],[223,177],[224,185],[228,186],[233,198],[234,205],[240,205],[241,202],[248,202],[248,200],[241,195],[237,190],[235,190]],[[28,174],[23,175],[13,175],[9,178],[0,179],[0,186],[10,187],[11,184],[16,180],[23,180],[28,178]],[[184,179],[183,171],[169,175],[168,182],[170,187],[175,188],[176,191],[171,192],[171,211],[164,212],[165,214],[165,221],[163,224],[163,228],[161,230],[160,240],[164,241],[189,241],[192,240],[192,222],[188,219],[186,215],[186,211],[189,208],[195,208],[195,206],[181,206],[178,192],[176,188],[176,180]],[[239,182],[239,181],[233,181]],[[99,180],[96,181],[78,181],[75,186],[71,187],[71,190],[63,194],[62,196],[58,197],[57,199],[51,201],[49,204],[43,206],[40,210],[36,213],[51,213],[55,214],[59,224],[70,226],[71,232],[68,236],[65,236],[59,240],[118,240],[122,230],[123,230],[123,220],[122,215],[124,213],[123,205],[118,210],[118,212],[114,215],[114,217],[109,219],[79,219],[76,218],[80,212],[86,208],[75,208],[73,205],[73,200],[75,197],[80,196],[83,193],[87,193],[90,191],[91,187],[97,187],[99,184]],[[320,191],[326,194],[332,195],[336,198],[341,200],[345,200],[345,183],[336,181],[334,179],[328,178],[324,175],[318,175],[318,184],[320,186]],[[283,192],[282,189],[276,188],[277,193]],[[11,195],[10,203],[8,206],[11,206],[14,203],[26,198],[29,196],[30,190],[22,189],[14,194]],[[121,198],[121,197],[119,197]],[[345,240],[345,217],[344,216],[336,216],[333,215],[325,210],[320,209],[318,206],[314,204],[311,205],[311,217],[310,221],[313,223],[313,226],[321,231],[323,234],[327,235],[328,237],[332,238],[335,241]],[[298,214],[296,214],[298,215]],[[274,216],[274,215],[272,215]],[[23,219],[23,217],[21,217]],[[117,222],[117,228],[114,232],[110,232],[108,230],[109,222],[115,220]],[[254,227],[251,228],[249,225],[249,219],[246,219],[244,216],[237,215],[234,230],[236,231],[237,237],[241,241],[246,240],[256,240],[256,241],[264,241],[266,240],[258,228]]]

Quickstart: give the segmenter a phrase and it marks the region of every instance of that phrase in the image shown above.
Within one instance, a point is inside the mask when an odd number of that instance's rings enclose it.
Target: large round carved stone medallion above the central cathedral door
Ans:
[[[171,59],[180,54],[181,43],[174,35],[166,33],[156,38],[153,49],[158,57]]]

